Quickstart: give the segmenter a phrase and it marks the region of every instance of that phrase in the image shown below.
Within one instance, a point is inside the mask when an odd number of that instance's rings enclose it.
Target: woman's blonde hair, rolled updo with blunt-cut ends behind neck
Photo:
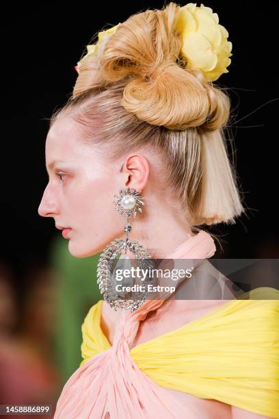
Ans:
[[[104,38],[51,124],[70,115],[84,140],[109,145],[116,158],[150,145],[192,226],[234,224],[244,209],[224,134],[230,98],[181,58],[179,8],[134,14]]]

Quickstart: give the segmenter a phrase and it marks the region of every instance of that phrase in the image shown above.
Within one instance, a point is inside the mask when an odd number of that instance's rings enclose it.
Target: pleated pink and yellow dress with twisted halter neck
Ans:
[[[169,258],[214,253],[213,239],[200,231]],[[133,348],[139,322],[163,300],[122,312],[112,345],[101,329],[98,301],[81,328],[83,361],[64,385],[54,418],[201,418],[168,388],[279,418],[279,291],[250,294],[258,299],[229,301]]]

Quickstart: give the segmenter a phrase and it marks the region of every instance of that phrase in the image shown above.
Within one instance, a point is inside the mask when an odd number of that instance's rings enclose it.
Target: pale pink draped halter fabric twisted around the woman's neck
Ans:
[[[200,231],[169,256],[204,259],[215,253],[209,233]],[[72,374],[57,401],[54,418],[62,419],[202,419],[194,407],[185,407],[144,374],[129,350],[139,322],[163,300],[147,300],[133,314],[122,312],[114,342],[107,350],[88,359]]]

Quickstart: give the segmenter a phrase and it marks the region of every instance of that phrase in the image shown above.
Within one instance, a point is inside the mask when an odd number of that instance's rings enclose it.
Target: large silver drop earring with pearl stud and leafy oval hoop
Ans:
[[[118,195],[114,195],[116,211],[118,211],[121,216],[127,218],[127,222],[124,226],[126,239],[117,238],[113,242],[110,242],[101,253],[97,268],[97,283],[105,301],[107,301],[111,307],[114,307],[115,310],[131,309],[132,313],[146,301],[148,284],[152,284],[152,278],[150,279],[150,277],[146,275],[146,283],[142,284],[142,288],[140,288],[139,292],[133,292],[133,299],[129,299],[127,296],[131,296],[131,292],[125,294],[125,292],[116,291],[116,285],[118,285],[118,283],[112,275],[111,270],[115,268],[115,262],[117,262],[116,258],[123,250],[126,255],[128,250],[135,255],[139,262],[139,271],[141,271],[141,269],[150,269],[153,266],[152,259],[146,249],[144,249],[144,246],[135,240],[129,240],[129,233],[131,233],[132,229],[129,220],[132,216],[135,218],[137,212],[142,213],[141,205],[145,205],[142,196],[139,194],[140,191],[135,190],[135,188],[126,188],[124,191],[120,190]],[[125,298],[123,299],[121,296],[124,296]]]

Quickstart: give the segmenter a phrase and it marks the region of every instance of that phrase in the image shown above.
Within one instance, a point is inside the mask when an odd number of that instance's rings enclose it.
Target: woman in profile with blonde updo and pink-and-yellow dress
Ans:
[[[124,236],[112,199],[130,188],[146,204],[132,235],[152,259],[208,263],[215,243],[198,226],[244,211],[224,141],[230,100],[213,84],[228,72],[227,37],[210,8],[170,3],[88,45],[51,120],[39,207],[72,255]],[[83,361],[55,418],[279,418],[278,294],[230,301],[222,290],[222,299],[148,299],[132,313],[104,294],[83,323]]]

